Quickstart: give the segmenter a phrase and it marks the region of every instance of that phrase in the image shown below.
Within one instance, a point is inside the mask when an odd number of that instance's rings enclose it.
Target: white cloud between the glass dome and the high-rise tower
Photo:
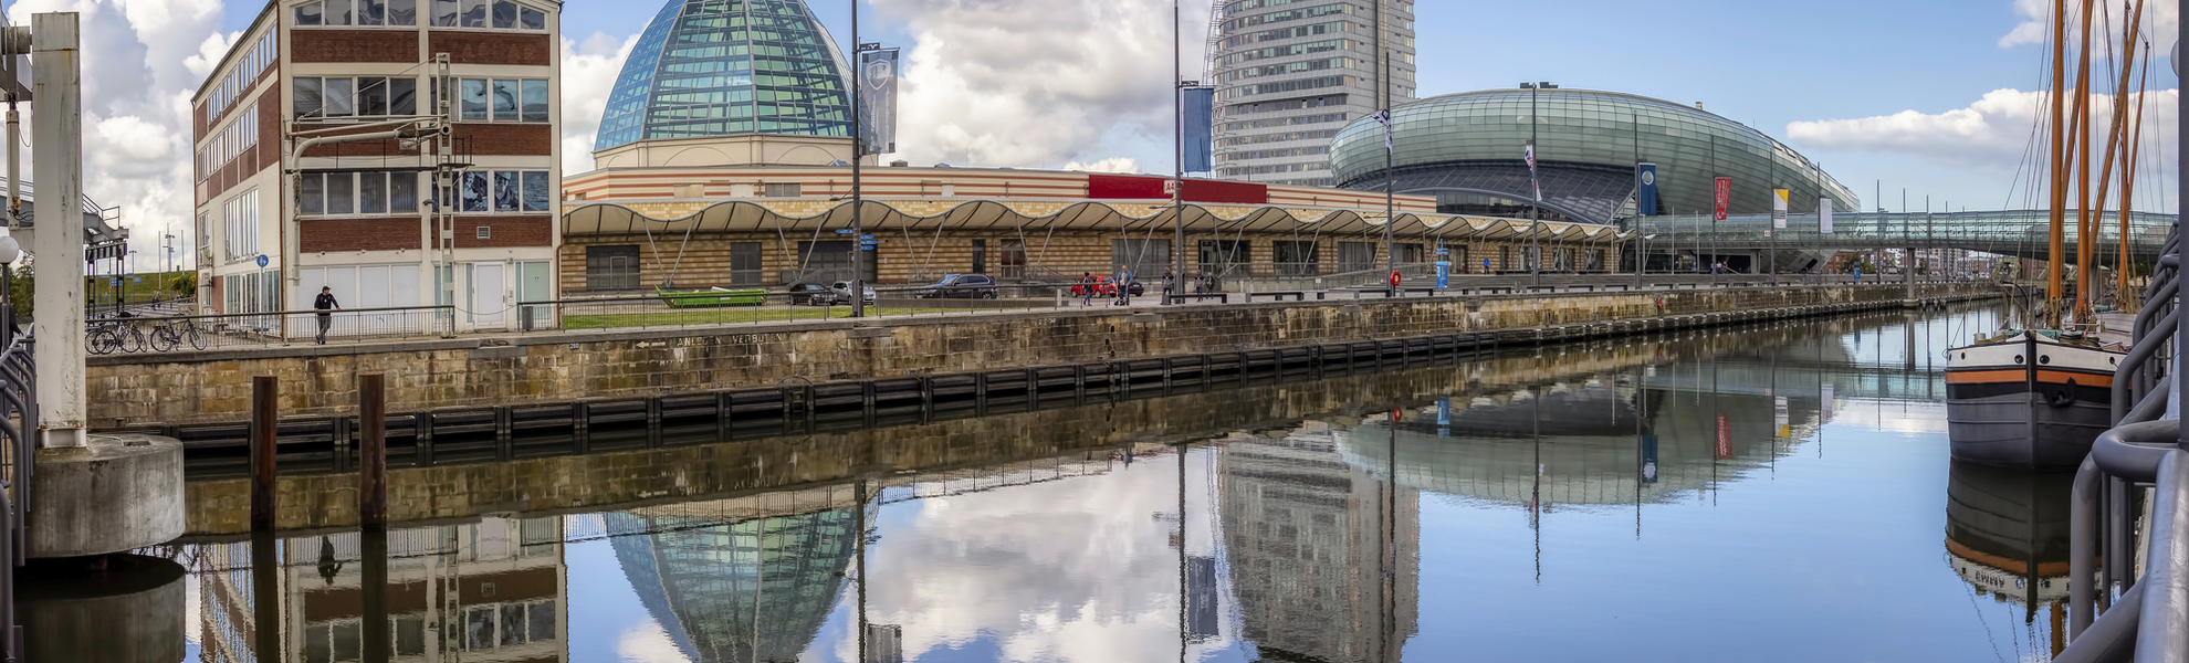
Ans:
[[[1105,140],[1171,136],[1171,4],[1162,0],[873,0],[915,35],[897,101],[900,155],[1051,166],[1114,155]],[[1200,77],[1206,2],[1184,7]],[[1112,131],[1125,129],[1125,131]]]

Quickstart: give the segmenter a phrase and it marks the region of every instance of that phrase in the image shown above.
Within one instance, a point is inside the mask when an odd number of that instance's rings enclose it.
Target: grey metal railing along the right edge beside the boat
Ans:
[[[2069,648],[2053,661],[2189,661],[2189,449],[2167,416],[2180,354],[2180,236],[2143,291],[2134,348],[2115,368],[2112,422],[2075,470],[2069,530]],[[2161,361],[2152,361],[2161,359]],[[2134,495],[2152,488],[2136,575]],[[2104,610],[2104,613],[2099,613]]]

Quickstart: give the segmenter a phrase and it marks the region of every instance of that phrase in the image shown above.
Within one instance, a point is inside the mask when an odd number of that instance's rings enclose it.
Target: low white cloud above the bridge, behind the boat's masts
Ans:
[[[2158,144],[2158,138],[2171,136],[2176,96],[2178,90],[2154,90],[2143,96],[2145,144]],[[1942,114],[1904,109],[1852,120],[1788,123],[1786,138],[1804,149],[1913,155],[1946,166],[2012,173],[2023,162],[2031,138],[2042,138],[2042,133],[2034,136],[2031,129],[2038,116],[2049,112],[2049,98],[2045,92],[1992,90],[1968,107]],[[2101,153],[2112,118],[2112,96],[2093,94],[2090,118],[2095,140],[2086,144]],[[2049,131],[2049,127],[2040,131]]]

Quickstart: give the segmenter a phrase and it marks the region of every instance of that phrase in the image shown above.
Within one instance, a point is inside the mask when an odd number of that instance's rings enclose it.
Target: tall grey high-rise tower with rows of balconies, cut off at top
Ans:
[[[1213,28],[1217,177],[1331,186],[1337,129],[1414,98],[1412,0],[1230,0]]]

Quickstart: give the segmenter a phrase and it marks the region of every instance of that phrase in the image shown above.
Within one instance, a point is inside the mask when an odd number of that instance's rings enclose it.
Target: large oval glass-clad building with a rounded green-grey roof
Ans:
[[[1640,175],[1655,164],[1657,214],[1712,210],[1712,179],[1731,177],[1731,214],[1769,214],[1771,190],[1788,188],[1791,212],[1812,212],[1819,190],[1832,208],[1861,201],[1762,131],[1696,107],[1598,90],[1480,90],[1392,109],[1394,190],[1436,195],[1438,212],[1526,217],[1534,158],[1545,219],[1611,223],[1635,214]],[[1381,190],[1383,125],[1362,118],[1337,131],[1331,168],[1344,188]]]

